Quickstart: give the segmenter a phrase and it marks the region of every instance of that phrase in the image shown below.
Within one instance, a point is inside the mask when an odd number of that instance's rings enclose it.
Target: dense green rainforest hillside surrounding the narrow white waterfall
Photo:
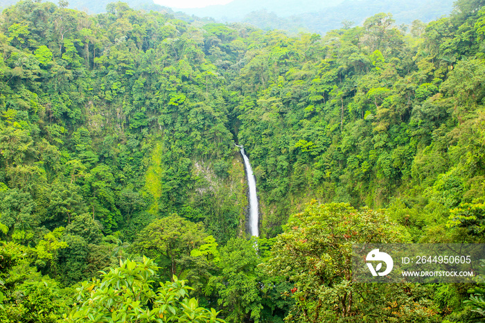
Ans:
[[[348,273],[352,243],[484,242],[484,4],[299,37],[125,3],[7,8],[0,321],[479,319],[463,301],[483,289]]]

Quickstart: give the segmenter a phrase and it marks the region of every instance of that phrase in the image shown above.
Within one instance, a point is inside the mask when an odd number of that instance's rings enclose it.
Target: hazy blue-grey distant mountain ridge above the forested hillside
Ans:
[[[0,8],[16,2],[0,0]],[[116,1],[75,0],[69,1],[68,8],[96,14],[106,12],[106,6],[111,2]],[[328,30],[340,28],[342,21],[360,25],[367,17],[378,12],[390,12],[398,25],[411,24],[415,19],[429,22],[447,15],[452,10],[454,0],[234,0],[226,5],[173,9],[160,6],[152,0],[122,2],[134,9],[166,11],[184,21],[211,17],[220,22],[248,23],[264,30],[324,34]]]

